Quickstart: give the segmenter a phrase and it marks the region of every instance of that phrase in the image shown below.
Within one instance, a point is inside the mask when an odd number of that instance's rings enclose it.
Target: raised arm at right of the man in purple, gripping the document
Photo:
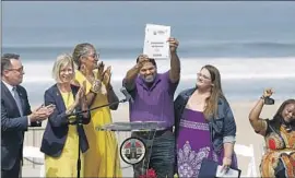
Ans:
[[[172,83],[176,83],[180,79],[180,61],[177,55],[178,40],[175,38],[169,38],[169,48],[170,48],[170,71],[169,79]]]

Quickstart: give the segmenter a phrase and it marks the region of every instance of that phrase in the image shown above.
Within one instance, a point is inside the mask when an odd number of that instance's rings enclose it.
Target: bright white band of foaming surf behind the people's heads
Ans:
[[[135,64],[135,59],[106,59],[111,66],[113,81],[121,81],[126,72]],[[271,80],[294,79],[295,57],[290,58],[181,58],[181,80],[196,80],[196,73],[204,64],[215,66],[222,80]],[[24,61],[24,82],[54,82],[54,60]],[[169,60],[157,61],[158,72],[169,70]]]

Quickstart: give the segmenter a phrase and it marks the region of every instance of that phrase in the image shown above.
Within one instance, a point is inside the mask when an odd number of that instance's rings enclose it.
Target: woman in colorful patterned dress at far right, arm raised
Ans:
[[[261,119],[264,98],[272,90],[266,90],[252,108],[249,120],[256,133],[264,137],[267,152],[260,165],[261,177],[295,177],[295,99],[285,100],[272,120]]]

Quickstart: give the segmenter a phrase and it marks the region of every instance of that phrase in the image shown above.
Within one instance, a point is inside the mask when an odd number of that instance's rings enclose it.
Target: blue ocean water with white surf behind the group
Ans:
[[[142,52],[146,23],[172,26],[180,41],[181,81],[192,87],[204,64],[219,68],[229,100],[253,100],[264,87],[275,99],[295,97],[295,3],[293,2],[2,2],[2,52],[21,55],[23,85],[33,105],[54,81],[56,57],[92,43],[113,68],[119,92]],[[158,71],[169,60],[157,61]]]

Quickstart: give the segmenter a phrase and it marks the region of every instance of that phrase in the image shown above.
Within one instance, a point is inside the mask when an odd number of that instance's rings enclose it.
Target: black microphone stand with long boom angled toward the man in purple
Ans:
[[[129,99],[121,99],[119,102],[114,102],[114,103],[110,103],[110,104],[106,104],[106,105],[102,105],[102,106],[97,106],[97,107],[94,107],[94,108],[91,108],[91,109],[87,109],[87,110],[81,110],[81,111],[75,111],[73,114],[70,114],[68,115],[68,117],[70,116],[75,116],[76,120],[74,122],[70,122],[69,124],[76,124],[76,131],[78,131],[78,161],[76,161],[76,177],[80,178],[80,171],[81,171],[81,138],[80,138],[80,133],[82,131],[82,126],[83,126],[83,114],[84,112],[90,112],[92,110],[95,110],[95,109],[99,109],[99,108],[103,108],[103,107],[107,107],[107,106],[113,106],[113,105],[116,105],[116,104],[119,104],[119,103],[125,103],[125,102],[128,102]]]

